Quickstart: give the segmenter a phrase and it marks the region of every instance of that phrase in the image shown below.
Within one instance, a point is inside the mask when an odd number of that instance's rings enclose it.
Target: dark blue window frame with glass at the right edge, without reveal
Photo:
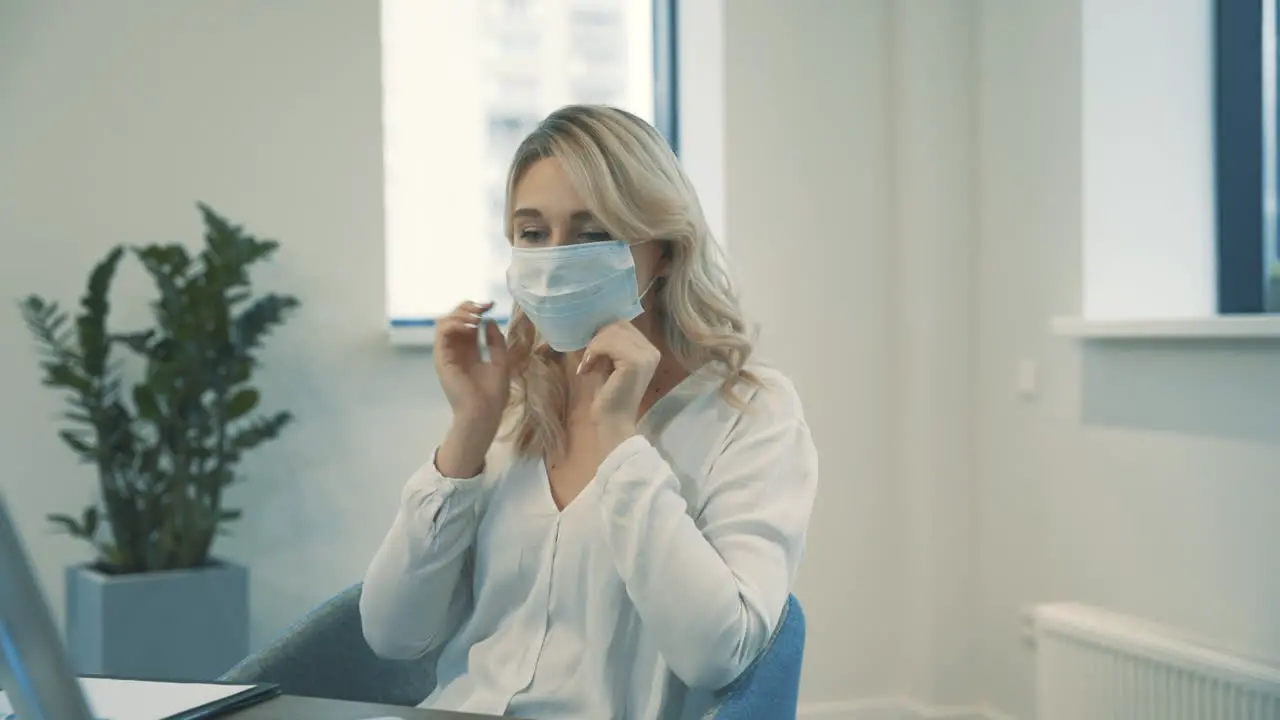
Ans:
[[[1216,0],[1213,126],[1217,305],[1280,313],[1277,0]]]

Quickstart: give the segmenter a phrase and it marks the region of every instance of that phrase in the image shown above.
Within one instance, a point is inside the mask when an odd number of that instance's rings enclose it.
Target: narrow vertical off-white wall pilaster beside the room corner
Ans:
[[[973,374],[977,4],[890,0],[893,323],[905,582],[899,687],[973,700]]]

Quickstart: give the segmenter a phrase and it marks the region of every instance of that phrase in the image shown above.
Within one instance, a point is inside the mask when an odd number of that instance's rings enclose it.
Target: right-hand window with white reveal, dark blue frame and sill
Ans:
[[[1276,0],[1080,6],[1082,307],[1056,331],[1277,337]]]

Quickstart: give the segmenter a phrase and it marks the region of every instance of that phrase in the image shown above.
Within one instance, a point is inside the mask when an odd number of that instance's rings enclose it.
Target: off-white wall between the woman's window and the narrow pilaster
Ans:
[[[800,600],[812,701],[895,682],[901,593],[890,406],[892,188],[884,3],[727,4],[730,254],[822,457]]]

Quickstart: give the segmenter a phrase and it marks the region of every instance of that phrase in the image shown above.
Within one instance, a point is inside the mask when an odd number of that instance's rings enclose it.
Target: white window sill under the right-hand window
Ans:
[[[1098,320],[1055,318],[1053,334],[1076,340],[1280,340],[1280,315]]]

